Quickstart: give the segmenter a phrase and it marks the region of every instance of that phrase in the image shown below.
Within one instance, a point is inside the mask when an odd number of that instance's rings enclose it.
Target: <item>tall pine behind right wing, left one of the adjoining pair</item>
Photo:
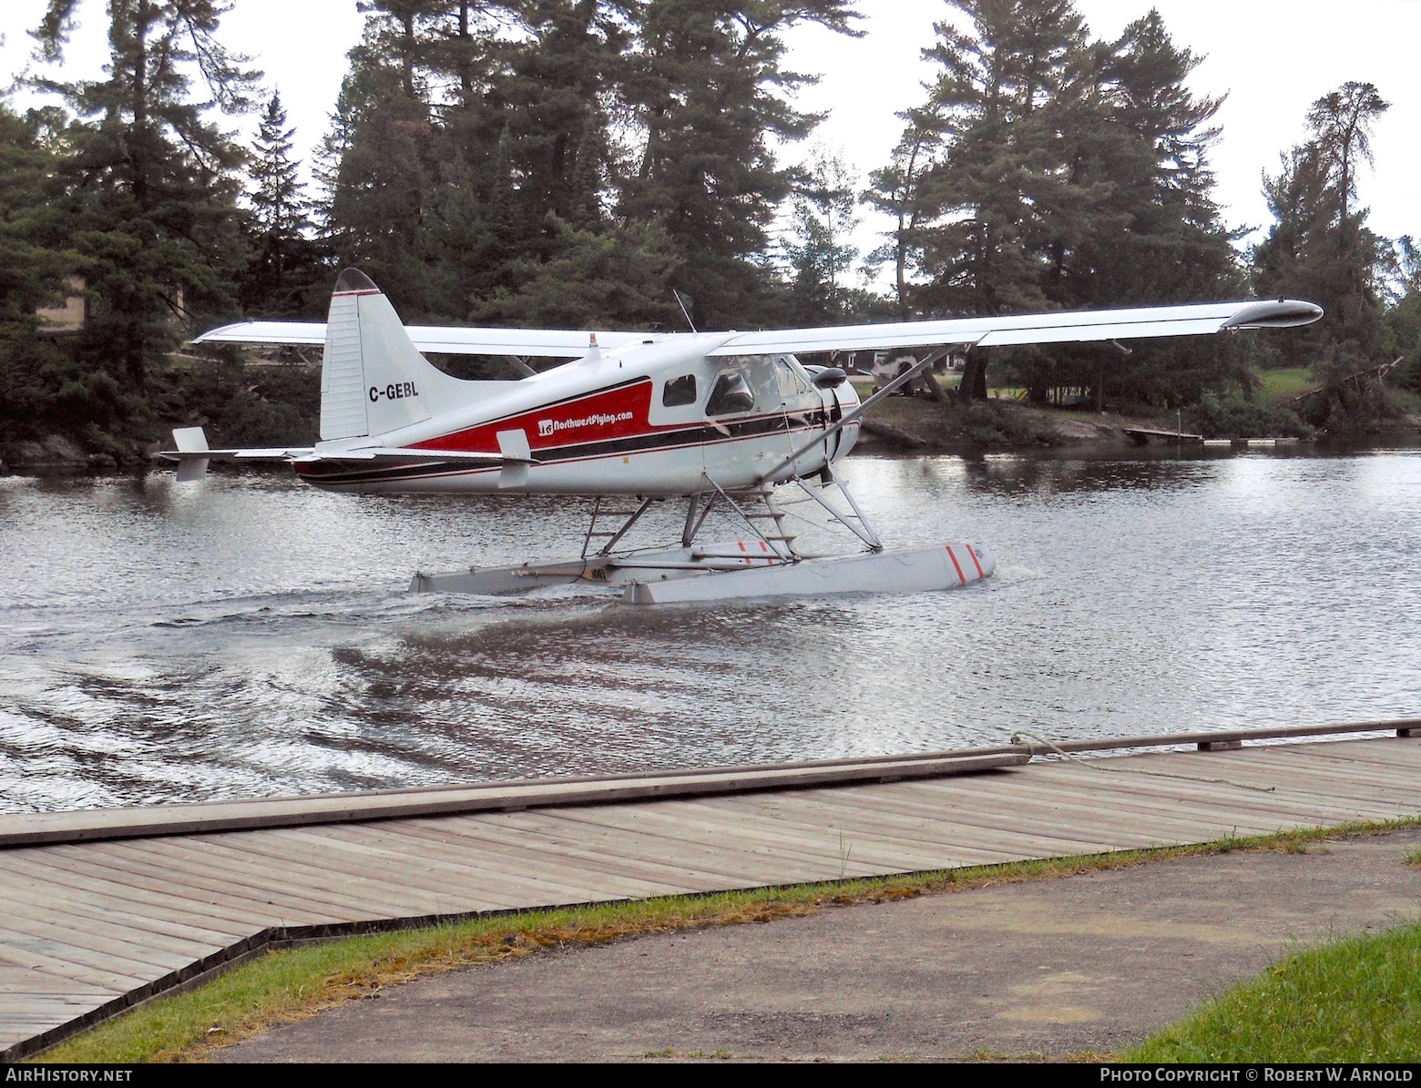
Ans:
[[[941,152],[919,183],[915,263],[928,312],[999,314],[1049,305],[1044,273],[1088,230],[1108,189],[1076,176],[1086,30],[1070,0],[951,0],[969,20],[936,27],[924,55],[941,65],[919,116]],[[968,398],[986,396],[986,361],[968,359]]]

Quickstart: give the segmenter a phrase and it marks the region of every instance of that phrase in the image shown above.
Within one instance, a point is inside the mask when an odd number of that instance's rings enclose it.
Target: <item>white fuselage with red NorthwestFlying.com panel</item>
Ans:
[[[497,455],[509,432],[522,432],[533,463],[512,483],[506,470],[468,460],[320,459],[368,447],[369,439],[323,442],[317,459],[298,460],[296,470],[311,484],[342,491],[669,497],[810,476],[848,453],[857,423],[813,439],[857,408],[853,385],[816,386],[787,354],[712,354],[732,337],[648,335],[607,354],[590,349],[587,358],[517,382],[445,378],[423,391],[408,388],[439,401],[422,406],[428,419],[378,437],[389,449]],[[388,392],[372,386],[369,395],[374,401]],[[806,445],[793,466],[784,464]]]

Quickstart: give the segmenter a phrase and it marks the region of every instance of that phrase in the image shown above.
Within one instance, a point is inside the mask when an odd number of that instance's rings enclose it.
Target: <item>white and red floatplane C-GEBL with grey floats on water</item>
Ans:
[[[595,500],[581,555],[419,572],[411,584],[419,592],[510,594],[585,580],[621,587],[634,604],[664,604],[946,589],[989,577],[990,548],[944,541],[885,551],[841,474],[880,399],[949,352],[1292,328],[1319,317],[1312,303],[1277,300],[756,332],[406,328],[350,268],[325,324],[247,321],[195,341],[323,347],[321,440],[210,449],[202,428],[183,428],[163,456],[179,463],[182,482],[200,479],[213,459],[279,460],[334,491]],[[929,351],[863,402],[843,369],[797,358],[878,348]],[[463,381],[422,352],[504,357],[523,376]],[[536,372],[529,358],[566,362]],[[823,507],[857,551],[796,548],[782,489]],[[661,501],[686,504],[679,540],[625,547]],[[740,535],[702,541],[712,513]]]

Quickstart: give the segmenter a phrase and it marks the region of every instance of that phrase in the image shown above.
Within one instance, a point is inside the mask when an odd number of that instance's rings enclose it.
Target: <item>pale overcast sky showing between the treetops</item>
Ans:
[[[0,72],[7,78],[27,62],[33,41],[26,31],[44,7],[45,0],[0,0]],[[861,24],[867,37],[803,27],[790,38],[790,67],[823,77],[800,98],[803,108],[828,114],[813,139],[865,176],[898,141],[894,114],[924,98],[931,68],[919,50],[948,9],[942,0],[860,7],[871,13]],[[1150,4],[1077,0],[1077,7],[1097,37],[1111,38]],[[1421,234],[1421,0],[1157,0],[1155,7],[1175,43],[1206,58],[1191,80],[1194,91],[1228,95],[1212,162],[1231,226],[1268,224],[1259,178],[1302,139],[1309,104],[1347,80],[1370,80],[1391,109],[1377,125],[1376,169],[1358,182],[1361,200],[1378,233]],[[280,87],[307,153],[325,132],[361,23],[355,0],[236,0],[225,20],[229,45],[252,55],[267,82]],[[70,71],[97,74],[104,60],[104,0],[81,0]],[[803,153],[786,149],[790,159]],[[864,214],[858,241],[868,250],[887,223]]]

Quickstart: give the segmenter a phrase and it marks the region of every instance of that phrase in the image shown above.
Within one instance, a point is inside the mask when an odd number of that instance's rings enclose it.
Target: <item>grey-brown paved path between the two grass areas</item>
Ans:
[[[426,977],[229,1061],[1108,1052],[1329,935],[1412,920],[1421,832],[1188,858]]]

